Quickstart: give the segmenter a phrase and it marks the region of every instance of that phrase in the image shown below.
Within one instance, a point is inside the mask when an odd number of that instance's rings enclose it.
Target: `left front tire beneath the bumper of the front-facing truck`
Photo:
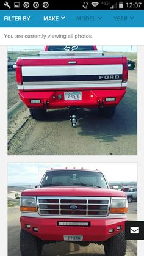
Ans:
[[[43,242],[31,233],[21,229],[20,251],[22,256],[41,256]]]

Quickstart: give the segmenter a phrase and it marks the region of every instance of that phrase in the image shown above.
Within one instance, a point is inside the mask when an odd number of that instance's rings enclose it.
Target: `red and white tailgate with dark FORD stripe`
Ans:
[[[18,65],[18,64],[17,64]],[[96,53],[50,53],[41,57],[22,57],[23,90],[120,88],[123,56]],[[126,86],[126,85],[124,85]]]

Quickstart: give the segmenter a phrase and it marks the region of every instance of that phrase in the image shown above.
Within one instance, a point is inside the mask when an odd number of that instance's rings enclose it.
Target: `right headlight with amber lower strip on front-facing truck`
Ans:
[[[127,213],[127,211],[128,211],[127,199],[112,199],[109,213],[111,213],[111,214]]]

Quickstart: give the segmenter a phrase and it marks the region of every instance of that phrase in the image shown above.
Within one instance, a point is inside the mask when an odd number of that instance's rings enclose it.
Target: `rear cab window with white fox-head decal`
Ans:
[[[54,45],[49,46],[48,51],[93,51],[92,45]]]

